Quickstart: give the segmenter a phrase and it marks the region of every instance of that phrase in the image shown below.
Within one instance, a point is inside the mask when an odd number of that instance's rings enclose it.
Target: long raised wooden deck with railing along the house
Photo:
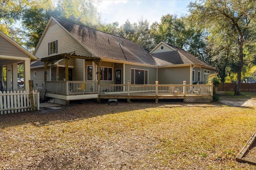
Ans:
[[[48,81],[46,96],[63,100],[84,99],[183,99],[211,102],[212,85],[184,84],[97,84],[92,81]]]

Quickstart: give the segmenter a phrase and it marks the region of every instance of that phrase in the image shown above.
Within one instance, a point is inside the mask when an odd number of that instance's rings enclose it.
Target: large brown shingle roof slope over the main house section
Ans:
[[[52,17],[95,57],[156,65],[152,55],[129,39]]]

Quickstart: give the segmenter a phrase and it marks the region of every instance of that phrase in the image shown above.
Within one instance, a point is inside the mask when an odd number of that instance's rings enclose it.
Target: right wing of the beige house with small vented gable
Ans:
[[[158,81],[161,84],[189,84],[208,82],[208,75],[217,72],[210,64],[201,61],[194,55],[168,43],[160,42],[150,54],[158,66]]]

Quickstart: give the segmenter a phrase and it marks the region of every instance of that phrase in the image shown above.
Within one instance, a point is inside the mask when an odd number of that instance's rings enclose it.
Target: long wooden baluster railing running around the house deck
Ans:
[[[212,96],[212,85],[195,84],[100,84],[94,81],[46,81],[48,93],[63,95],[97,94],[99,96]]]

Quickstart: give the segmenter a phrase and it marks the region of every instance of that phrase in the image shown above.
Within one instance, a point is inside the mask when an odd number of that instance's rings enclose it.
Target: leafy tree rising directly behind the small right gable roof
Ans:
[[[209,62],[204,55],[204,33],[196,29],[186,17],[177,18],[167,14],[162,16],[161,22],[154,22],[150,27],[150,35],[154,46],[161,41],[183,48],[199,59]]]

